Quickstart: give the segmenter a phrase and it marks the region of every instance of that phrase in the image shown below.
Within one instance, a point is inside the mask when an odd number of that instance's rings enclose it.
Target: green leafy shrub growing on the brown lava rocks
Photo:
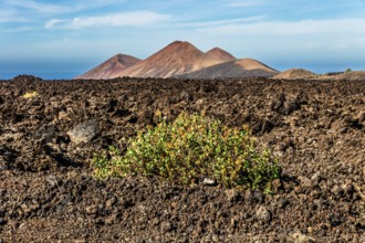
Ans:
[[[270,152],[255,148],[248,129],[186,113],[138,131],[124,155],[109,147],[108,155],[96,156],[93,165],[101,179],[138,173],[190,184],[209,178],[226,187],[265,191],[281,173]]]

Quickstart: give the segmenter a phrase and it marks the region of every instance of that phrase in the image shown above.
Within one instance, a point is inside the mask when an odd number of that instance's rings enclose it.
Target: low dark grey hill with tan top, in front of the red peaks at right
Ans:
[[[271,77],[279,72],[253,59],[241,59],[225,62],[191,73],[177,75],[180,78],[241,78],[241,77]]]

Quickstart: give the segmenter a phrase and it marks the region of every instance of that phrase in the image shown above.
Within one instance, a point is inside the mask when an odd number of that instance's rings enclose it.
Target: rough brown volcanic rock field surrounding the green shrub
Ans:
[[[157,110],[249,125],[283,168],[274,193],[96,180],[94,154]],[[0,242],[365,242],[364,134],[365,81],[18,76],[0,82]]]

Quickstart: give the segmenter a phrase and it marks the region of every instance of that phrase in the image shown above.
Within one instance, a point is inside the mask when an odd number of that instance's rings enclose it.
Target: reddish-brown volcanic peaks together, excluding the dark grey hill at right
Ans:
[[[233,55],[219,47],[202,52],[189,42],[175,41],[143,61],[128,55],[113,56],[75,78],[107,80],[123,76],[166,78],[233,60],[236,60]]]

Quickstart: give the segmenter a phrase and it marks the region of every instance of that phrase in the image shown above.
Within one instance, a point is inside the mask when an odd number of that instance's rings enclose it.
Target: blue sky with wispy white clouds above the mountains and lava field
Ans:
[[[70,78],[175,40],[280,71],[365,70],[365,0],[0,1],[0,78]]]

